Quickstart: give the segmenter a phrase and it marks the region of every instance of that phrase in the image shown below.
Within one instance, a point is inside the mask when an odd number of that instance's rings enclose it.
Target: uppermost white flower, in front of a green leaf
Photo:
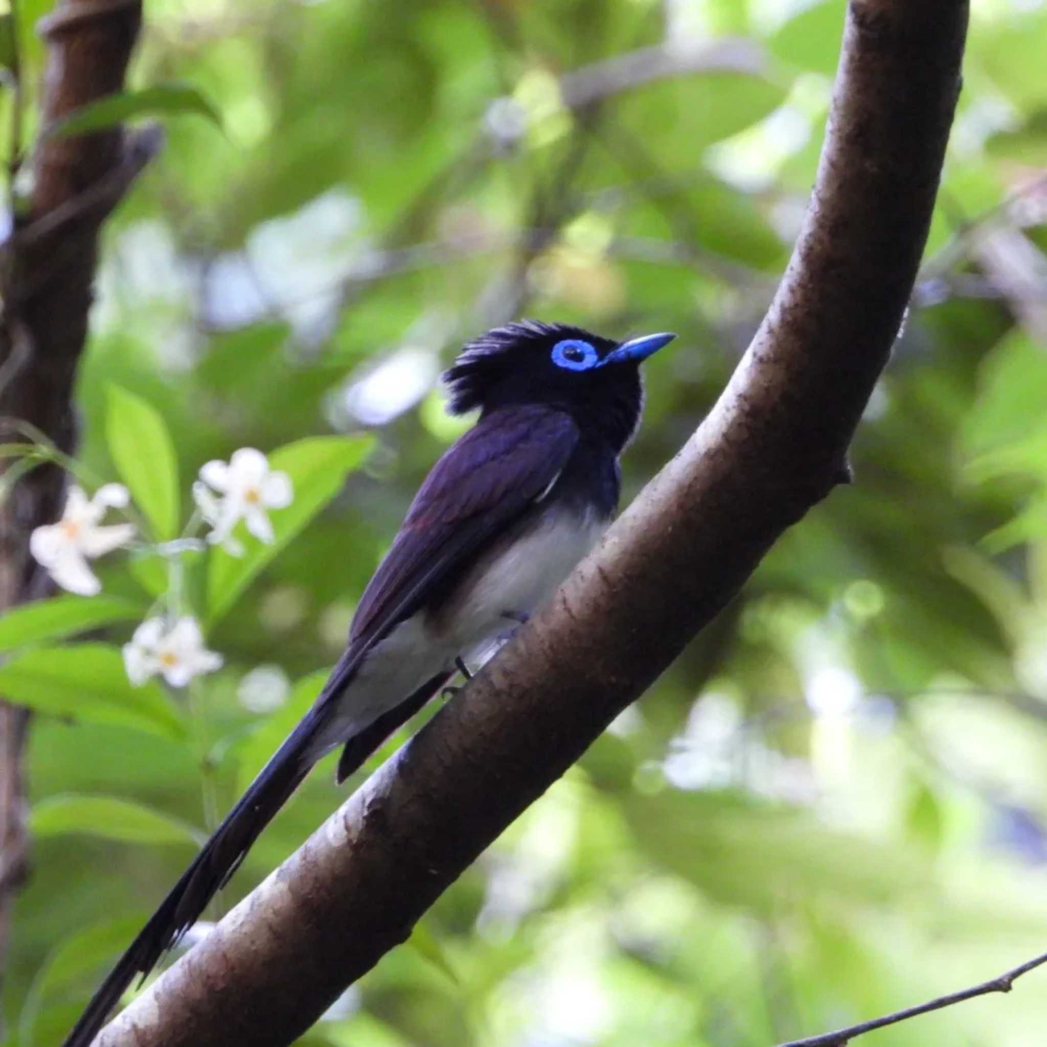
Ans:
[[[217,491],[222,497],[216,497]],[[226,462],[208,462],[193,485],[193,497],[203,518],[211,526],[207,540],[239,556],[239,542],[230,539],[232,529],[243,519],[260,541],[273,540],[269,509],[291,504],[291,478],[286,472],[271,472],[269,461],[253,447],[241,447]]]

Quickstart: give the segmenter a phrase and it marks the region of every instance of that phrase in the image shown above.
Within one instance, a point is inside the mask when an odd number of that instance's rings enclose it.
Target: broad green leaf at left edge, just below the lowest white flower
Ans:
[[[179,741],[185,723],[159,685],[133,687],[119,648],[35,647],[0,666],[0,694],[50,716],[149,731]]]

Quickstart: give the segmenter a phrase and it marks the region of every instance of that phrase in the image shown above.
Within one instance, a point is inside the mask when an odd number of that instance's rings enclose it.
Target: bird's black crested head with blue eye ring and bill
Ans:
[[[445,372],[448,410],[549,404],[621,449],[640,421],[640,364],[674,337],[619,342],[565,324],[507,324],[468,342]]]

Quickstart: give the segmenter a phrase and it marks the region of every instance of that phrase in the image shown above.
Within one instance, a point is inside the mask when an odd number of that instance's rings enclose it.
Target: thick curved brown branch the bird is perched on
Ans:
[[[845,478],[923,248],[966,17],[852,0],[803,230],[711,415],[516,639],[97,1044],[303,1032]]]

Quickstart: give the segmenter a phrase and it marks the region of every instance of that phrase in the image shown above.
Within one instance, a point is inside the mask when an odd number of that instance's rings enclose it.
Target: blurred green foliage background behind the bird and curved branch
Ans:
[[[19,6],[23,25],[46,9]],[[1047,4],[972,6],[856,483],[303,1043],[765,1047],[1047,948]],[[108,225],[85,464],[116,477],[113,382],[161,413],[186,492],[245,445],[367,431],[374,446],[208,636],[226,665],[179,712],[196,742],[38,716],[34,804],[118,798],[202,830],[202,753],[231,803],[460,431],[437,378],[478,331],[529,315],[678,332],[647,371],[636,493],[708,410],[787,260],[843,9],[150,0],[133,84],[190,83],[223,126],[166,118],[166,149]],[[39,43],[23,58],[39,76]],[[149,605],[130,559],[103,577]],[[343,796],[325,764],[219,910]],[[59,1042],[192,854],[157,822],[116,841],[89,806],[67,810],[40,819],[17,908],[2,1005],[20,1047]],[[876,1042],[1040,1045],[1045,985]]]

